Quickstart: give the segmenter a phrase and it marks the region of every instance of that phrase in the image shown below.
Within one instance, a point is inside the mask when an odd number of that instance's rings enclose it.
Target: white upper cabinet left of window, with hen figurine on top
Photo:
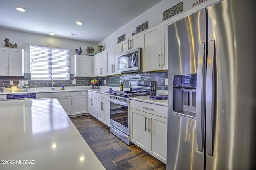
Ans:
[[[24,76],[24,50],[0,47],[0,76]]]

